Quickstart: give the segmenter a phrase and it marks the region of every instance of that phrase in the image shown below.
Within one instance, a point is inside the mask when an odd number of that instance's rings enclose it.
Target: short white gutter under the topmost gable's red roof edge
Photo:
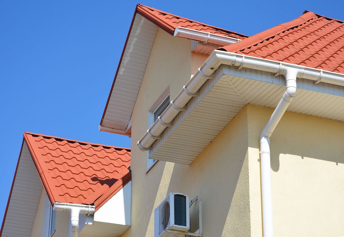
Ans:
[[[198,41],[201,41],[202,44],[211,43],[211,44],[216,44],[216,45],[221,45],[221,46],[234,44],[241,40],[234,37],[217,35],[217,34],[207,33],[203,31],[197,31],[195,29],[189,29],[189,28],[184,28],[180,26],[174,29],[173,35],[183,37],[183,38],[198,40]]]

